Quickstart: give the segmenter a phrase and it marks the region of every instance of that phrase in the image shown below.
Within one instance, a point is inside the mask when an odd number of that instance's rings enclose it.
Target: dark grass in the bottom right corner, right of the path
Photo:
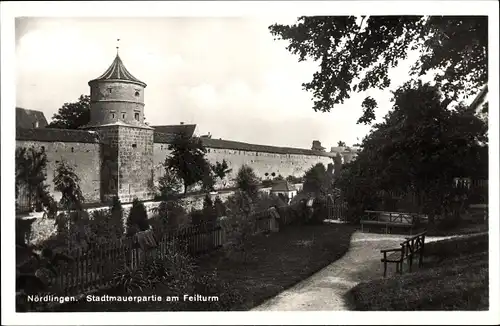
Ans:
[[[488,310],[488,235],[428,243],[424,267],[360,283],[347,293],[353,310]]]

